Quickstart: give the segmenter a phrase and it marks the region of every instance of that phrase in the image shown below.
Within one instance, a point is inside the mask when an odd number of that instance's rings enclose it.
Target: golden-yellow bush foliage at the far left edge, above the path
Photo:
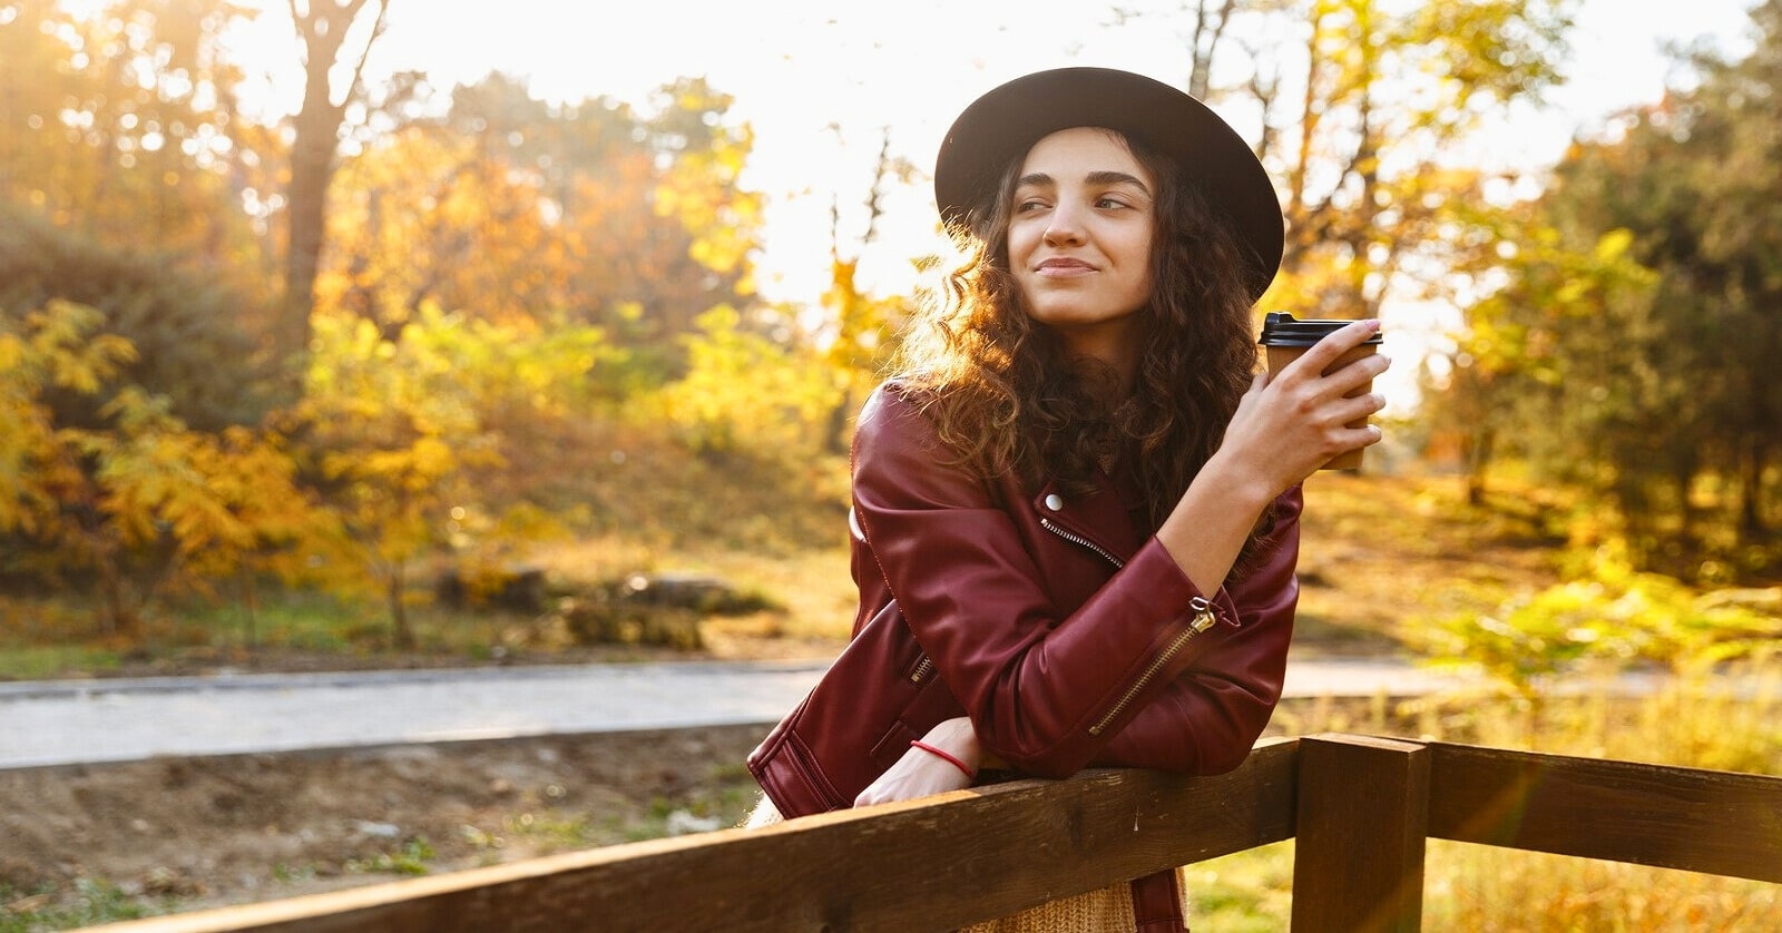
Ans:
[[[166,397],[114,386],[128,342],[94,335],[98,312],[52,303],[0,317],[0,532],[23,534],[48,568],[98,573],[110,627],[134,627],[164,591],[207,591],[242,568],[289,573],[326,550],[331,525],[298,488],[276,442],[189,429]],[[110,390],[103,427],[66,427],[45,393]]]

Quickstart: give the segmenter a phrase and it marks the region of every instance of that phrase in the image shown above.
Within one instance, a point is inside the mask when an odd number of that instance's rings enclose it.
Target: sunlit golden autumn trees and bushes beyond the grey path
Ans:
[[[850,420],[946,258],[896,256],[889,285],[859,269],[895,249],[882,205],[925,191],[930,153],[887,132],[832,192],[827,288],[768,297],[756,134],[723,87],[372,78],[390,5],[0,2],[0,630],[37,657],[9,675],[96,664],[69,646],[412,650],[454,618],[442,602],[533,573],[608,593],[747,559],[782,609],[846,584]],[[1579,613],[1454,630],[1607,652],[1636,589],[1677,625],[1773,629],[1782,0],[1752,7],[1746,50],[1679,53],[1688,82],[1538,176],[1468,155],[1565,80],[1574,12],[1107,16],[1174,36],[1189,89],[1253,128],[1288,217],[1258,315],[1427,337],[1395,351],[1417,392],[1369,470],[1415,484],[1426,518],[1513,516],[1556,584],[1597,588]],[[267,62],[232,37],[266,18],[303,75],[289,114],[242,100]],[[846,613],[845,593],[816,607]],[[356,621],[280,621],[298,614]]]

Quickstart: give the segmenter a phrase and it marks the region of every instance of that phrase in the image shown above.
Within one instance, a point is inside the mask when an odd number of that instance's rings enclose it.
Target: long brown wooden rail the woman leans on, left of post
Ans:
[[[946,929],[1288,839],[1294,773],[1274,742],[1214,778],[1091,771],[107,929]]]

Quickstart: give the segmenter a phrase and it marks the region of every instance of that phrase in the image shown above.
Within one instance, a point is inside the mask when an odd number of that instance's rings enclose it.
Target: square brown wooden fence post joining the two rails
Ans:
[[[1399,739],[1299,741],[1296,933],[1422,928],[1429,762]]]

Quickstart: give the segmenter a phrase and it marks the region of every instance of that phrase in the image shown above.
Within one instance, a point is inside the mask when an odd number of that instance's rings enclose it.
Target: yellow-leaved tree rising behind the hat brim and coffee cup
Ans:
[[[1196,0],[1189,85],[1260,123],[1287,214],[1271,306],[1377,315],[1410,292],[1445,212],[1479,196],[1452,153],[1561,78],[1575,0]]]

